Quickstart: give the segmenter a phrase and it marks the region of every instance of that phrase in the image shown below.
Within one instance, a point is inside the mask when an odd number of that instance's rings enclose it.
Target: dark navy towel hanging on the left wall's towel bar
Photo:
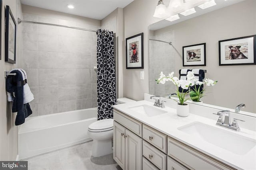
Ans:
[[[6,91],[15,92],[15,98],[12,104],[12,112],[18,112],[15,125],[21,125],[25,122],[25,118],[32,114],[29,104],[23,104],[23,81],[22,74],[19,70],[12,70],[10,73],[16,73],[16,76],[9,75],[6,78]]]

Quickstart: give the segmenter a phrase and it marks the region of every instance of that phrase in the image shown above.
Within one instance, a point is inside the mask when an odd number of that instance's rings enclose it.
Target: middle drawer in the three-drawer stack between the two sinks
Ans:
[[[160,170],[166,170],[166,155],[152,145],[143,141],[143,156]]]

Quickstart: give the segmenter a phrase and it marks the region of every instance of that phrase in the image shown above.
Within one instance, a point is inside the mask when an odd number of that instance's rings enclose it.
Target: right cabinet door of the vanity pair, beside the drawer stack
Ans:
[[[126,129],[126,170],[142,169],[142,139]]]

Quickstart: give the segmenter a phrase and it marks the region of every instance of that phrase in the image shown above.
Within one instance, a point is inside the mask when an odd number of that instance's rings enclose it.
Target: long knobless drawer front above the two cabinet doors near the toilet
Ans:
[[[114,120],[138,135],[142,137],[142,123],[128,117],[124,113],[114,109]]]

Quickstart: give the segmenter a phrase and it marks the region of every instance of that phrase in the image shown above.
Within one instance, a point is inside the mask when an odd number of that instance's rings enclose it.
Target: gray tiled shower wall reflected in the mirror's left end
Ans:
[[[156,79],[162,71],[166,76],[175,71],[174,30],[167,32],[150,31],[150,39],[172,42],[149,41],[149,94],[167,96],[174,93],[176,88],[172,82],[157,84]]]

